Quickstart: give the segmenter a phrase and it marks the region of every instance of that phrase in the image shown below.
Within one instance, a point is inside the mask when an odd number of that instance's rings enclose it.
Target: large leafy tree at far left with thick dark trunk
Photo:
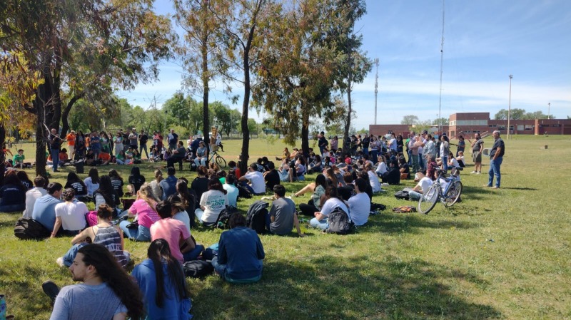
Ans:
[[[132,88],[156,78],[156,63],[171,55],[173,38],[168,19],[153,14],[150,0],[6,0],[0,6],[0,29],[0,47],[24,57],[4,54],[4,65],[25,63],[40,73],[34,90],[22,88],[34,100],[19,101],[36,115],[39,175],[45,175],[46,129],[59,128],[62,113],[88,92],[102,97],[116,86]]]

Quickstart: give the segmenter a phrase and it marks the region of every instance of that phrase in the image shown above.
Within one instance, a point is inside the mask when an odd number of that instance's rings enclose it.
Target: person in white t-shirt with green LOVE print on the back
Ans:
[[[220,212],[228,205],[228,196],[217,178],[208,180],[208,191],[201,196],[201,207],[194,211],[198,221],[212,224],[218,220]]]

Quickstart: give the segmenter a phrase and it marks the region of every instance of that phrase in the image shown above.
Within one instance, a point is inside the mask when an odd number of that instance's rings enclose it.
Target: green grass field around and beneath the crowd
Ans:
[[[491,138],[485,145],[491,147]],[[251,157],[272,159],[283,147],[252,140]],[[34,155],[32,148],[25,145],[26,155]],[[226,160],[236,159],[239,148],[240,141],[226,141]],[[113,167],[128,176],[129,166]],[[150,180],[153,165],[141,167]],[[305,238],[262,236],[261,281],[188,279],[193,314],[196,319],[571,319],[571,217],[565,200],[570,168],[570,136],[512,136],[506,140],[500,190],[482,187],[487,174],[470,175],[468,167],[463,202],[450,209],[437,204],[429,215],[388,209],[347,236],[307,227]],[[67,170],[52,181],[64,182]],[[485,160],[482,172],[487,170]],[[285,187],[289,194],[303,185]],[[388,208],[413,205],[393,197],[412,185],[387,187],[373,201]],[[238,202],[239,209],[245,212],[253,200]],[[69,271],[55,263],[70,238],[18,240],[13,226],[19,216],[0,214],[0,294],[6,294],[8,313],[16,319],[49,319],[51,305],[41,283],[72,283]],[[192,233],[210,245],[221,231]],[[147,246],[126,241],[136,263]]]

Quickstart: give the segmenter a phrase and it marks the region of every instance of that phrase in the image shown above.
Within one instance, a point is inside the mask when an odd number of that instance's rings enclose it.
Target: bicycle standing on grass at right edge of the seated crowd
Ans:
[[[443,186],[441,180],[446,182],[446,185]],[[444,207],[452,207],[458,202],[460,194],[462,194],[462,187],[459,177],[454,175],[445,177],[444,170],[439,169],[438,179],[426,192],[423,192],[422,197],[418,200],[418,212],[428,215],[428,212],[433,210],[438,200],[442,202]]]

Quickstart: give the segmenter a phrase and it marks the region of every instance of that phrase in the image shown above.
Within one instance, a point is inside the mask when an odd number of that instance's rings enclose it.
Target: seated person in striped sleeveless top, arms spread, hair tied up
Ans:
[[[71,248],[64,254],[64,257],[56,259],[60,267],[69,267],[74,262],[77,252],[86,244],[101,244],[108,249],[115,257],[121,267],[126,267],[131,255],[124,251],[125,242],[123,232],[116,225],[111,224],[113,208],[108,205],[100,205],[97,208],[97,224],[84,229],[71,239]]]

